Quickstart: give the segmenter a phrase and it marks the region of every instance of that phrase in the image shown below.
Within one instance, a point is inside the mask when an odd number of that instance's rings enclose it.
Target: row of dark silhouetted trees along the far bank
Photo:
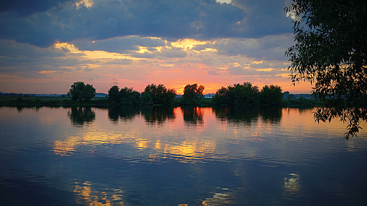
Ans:
[[[177,91],[167,88],[163,84],[147,85],[143,92],[139,93],[133,87],[114,85],[108,90],[108,100],[113,105],[200,105],[204,99],[203,85],[188,84],[183,89],[182,98],[176,99]],[[216,105],[242,105],[242,106],[271,106],[282,103],[282,89],[277,85],[265,85],[260,90],[251,82],[237,83],[218,89],[212,98],[211,104]],[[71,85],[68,95],[74,101],[88,102],[95,96],[95,88],[85,85],[84,82],[75,82]]]

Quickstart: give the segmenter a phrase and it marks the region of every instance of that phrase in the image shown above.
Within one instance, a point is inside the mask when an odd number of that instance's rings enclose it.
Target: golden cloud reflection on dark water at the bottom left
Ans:
[[[124,205],[123,191],[117,189],[105,189],[105,191],[92,190],[92,184],[89,181],[83,184],[75,183],[73,192],[76,194],[76,202],[90,206],[112,206]],[[112,191],[112,194],[111,192]]]

